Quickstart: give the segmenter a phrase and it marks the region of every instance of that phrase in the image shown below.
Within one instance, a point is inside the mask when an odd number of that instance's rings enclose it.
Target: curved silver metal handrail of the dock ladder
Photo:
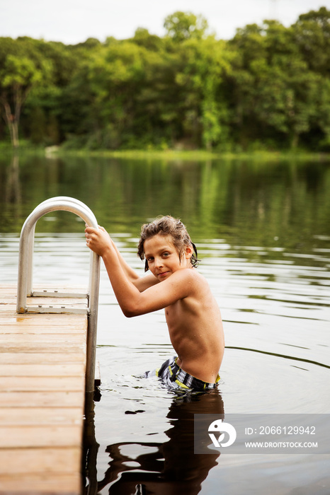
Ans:
[[[18,259],[18,288],[17,288],[17,313],[27,313],[26,298],[33,295],[32,290],[32,262],[33,240],[35,224],[50,211],[71,211],[85,221],[88,226],[98,228],[98,223],[93,212],[86,204],[70,197],[55,197],[40,203],[25,220],[19,245]],[[95,356],[96,356],[96,330],[98,318],[98,291],[100,283],[100,257],[95,252],[91,253],[89,271],[89,327],[87,332],[86,349],[86,392],[94,390]],[[67,295],[69,296],[69,294]]]

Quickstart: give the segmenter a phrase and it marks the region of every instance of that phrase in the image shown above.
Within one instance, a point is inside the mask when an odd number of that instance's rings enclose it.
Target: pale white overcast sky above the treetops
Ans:
[[[330,0],[0,0],[0,36],[29,36],[75,45],[95,37],[123,40],[137,28],[163,36],[164,18],[176,11],[201,14],[218,39],[264,19],[289,26],[301,13]]]

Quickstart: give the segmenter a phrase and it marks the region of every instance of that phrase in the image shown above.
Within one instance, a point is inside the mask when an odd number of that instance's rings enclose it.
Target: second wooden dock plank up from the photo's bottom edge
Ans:
[[[16,474],[72,473],[79,471],[80,448],[20,448],[0,450],[0,480]]]

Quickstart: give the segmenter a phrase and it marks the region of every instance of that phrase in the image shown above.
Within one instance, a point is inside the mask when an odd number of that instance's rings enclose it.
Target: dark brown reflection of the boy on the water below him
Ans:
[[[218,390],[173,398],[166,414],[170,427],[165,434],[169,441],[154,442],[151,436],[151,441],[142,443],[108,445],[109,467],[98,481],[98,491],[108,486],[108,493],[113,495],[134,494],[137,487],[141,494],[200,493],[201,484],[217,465],[220,453],[193,454],[193,415],[211,412],[224,413]]]

